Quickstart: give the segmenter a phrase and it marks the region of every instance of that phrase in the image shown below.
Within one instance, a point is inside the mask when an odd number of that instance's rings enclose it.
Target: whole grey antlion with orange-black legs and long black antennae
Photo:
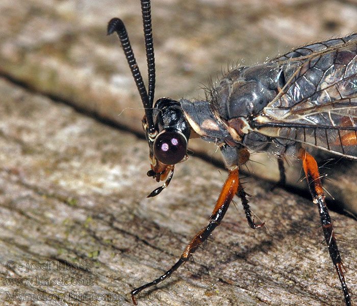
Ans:
[[[242,201],[249,226],[264,225],[256,224],[251,217],[247,194],[239,182],[239,167],[249,160],[249,152],[267,152],[278,160],[281,183],[285,183],[283,158],[295,157],[302,162],[345,304],[351,305],[318,166],[307,149],[316,147],[357,159],[357,34],[300,47],[265,64],[235,68],[217,87],[210,89],[207,100],[175,101],[163,97],[154,105],[155,60],[150,0],[141,0],[141,9],[148,91],[123,22],[111,19],[108,34],[118,34],[145,108],[142,123],[151,162],[147,175],[157,182],[166,180],[149,197],[158,195],[169,185],[175,164],[187,160],[188,140],[193,134],[218,145],[228,177],[209,224],[192,239],[170,269],[131,292],[134,304],[135,295],[164,281],[188,261],[220,224],[235,195]]]

